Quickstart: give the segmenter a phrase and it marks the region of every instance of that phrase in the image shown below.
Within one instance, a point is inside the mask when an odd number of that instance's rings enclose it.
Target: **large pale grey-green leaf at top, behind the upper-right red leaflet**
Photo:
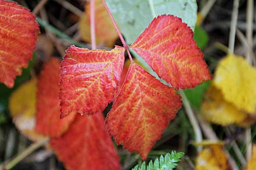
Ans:
[[[106,0],[106,3],[128,44],[157,15],[173,14],[193,30],[197,20],[196,0]]]

